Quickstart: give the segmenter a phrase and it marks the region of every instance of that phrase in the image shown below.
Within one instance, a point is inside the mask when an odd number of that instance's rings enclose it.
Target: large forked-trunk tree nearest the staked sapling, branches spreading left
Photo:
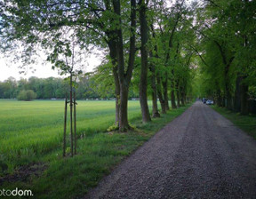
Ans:
[[[16,41],[22,41],[25,49],[26,60],[33,54],[36,44],[47,50],[52,50],[52,55],[63,53],[63,37],[66,30],[79,41],[81,48],[88,48],[90,44],[106,48],[113,63],[113,75],[116,84],[116,120],[119,130],[129,128],[127,115],[127,100],[129,84],[132,78],[132,68],[135,57],[135,30],[136,30],[136,1],[121,4],[113,1],[18,1],[9,0],[1,2],[1,49],[15,47]],[[123,11],[121,12],[121,10]],[[130,12],[130,18],[123,16]],[[123,25],[131,22],[130,29]],[[128,26],[129,27],[129,26]],[[128,34],[124,34],[123,31]],[[124,61],[124,39],[129,41],[129,59]],[[126,45],[125,45],[126,46]],[[125,49],[126,51],[126,49]],[[24,54],[23,54],[24,55]],[[53,57],[54,58],[54,57]],[[126,67],[126,66],[127,67]],[[65,69],[64,65],[62,65]],[[62,69],[63,69],[62,68]],[[117,119],[118,117],[118,119]]]

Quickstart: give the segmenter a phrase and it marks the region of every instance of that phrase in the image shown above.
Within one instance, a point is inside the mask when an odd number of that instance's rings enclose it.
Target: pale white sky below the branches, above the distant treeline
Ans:
[[[101,58],[99,55],[91,54],[90,57],[86,59],[87,67],[85,68],[85,72],[91,72],[93,68],[97,67],[101,63]],[[16,80],[20,80],[20,78],[28,79],[30,76],[37,76],[39,78],[46,78],[46,77],[61,77],[58,74],[58,70],[52,69],[52,65],[49,63],[42,64],[37,63],[36,65],[31,65],[32,69],[27,69],[27,74],[20,74],[20,68],[18,65],[15,64],[7,64],[10,62],[8,59],[4,59],[3,55],[0,57],[0,81],[3,82],[8,77],[12,76]],[[35,70],[35,72],[33,72]]]

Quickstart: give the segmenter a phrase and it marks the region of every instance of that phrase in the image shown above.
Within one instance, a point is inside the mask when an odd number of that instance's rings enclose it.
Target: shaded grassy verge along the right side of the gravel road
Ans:
[[[212,108],[256,139],[256,115],[240,115],[225,107],[213,106]]]

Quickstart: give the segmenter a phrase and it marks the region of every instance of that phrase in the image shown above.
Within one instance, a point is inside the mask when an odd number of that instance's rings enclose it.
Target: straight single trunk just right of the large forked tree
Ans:
[[[144,0],[139,1],[140,8],[140,38],[141,38],[141,70],[140,70],[140,109],[142,114],[142,122],[151,121],[148,109],[148,21],[146,18],[146,4]]]

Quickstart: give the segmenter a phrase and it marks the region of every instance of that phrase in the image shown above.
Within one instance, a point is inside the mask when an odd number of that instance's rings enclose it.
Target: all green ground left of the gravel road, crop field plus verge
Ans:
[[[144,124],[140,102],[129,101],[129,121],[136,131],[108,133],[115,123],[115,101],[77,103],[77,155],[62,158],[64,100],[0,100],[0,164],[8,165],[7,171],[0,172],[0,182],[1,176],[14,176],[0,187],[31,189],[36,198],[84,195],[116,163],[188,107]],[[15,177],[24,167],[33,168],[26,169],[26,179]]]

